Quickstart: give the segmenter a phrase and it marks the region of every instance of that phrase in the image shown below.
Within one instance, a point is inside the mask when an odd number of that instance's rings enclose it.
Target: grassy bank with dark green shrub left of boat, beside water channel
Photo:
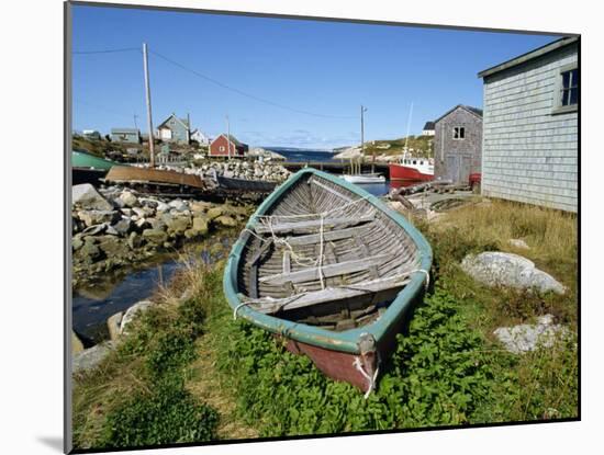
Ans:
[[[78,448],[136,447],[216,437],[219,413],[187,388],[198,357],[205,305],[217,298],[211,274],[186,269],[128,335],[94,371],[74,378],[74,440]],[[194,296],[181,286],[195,280]],[[194,275],[193,275],[194,274]]]

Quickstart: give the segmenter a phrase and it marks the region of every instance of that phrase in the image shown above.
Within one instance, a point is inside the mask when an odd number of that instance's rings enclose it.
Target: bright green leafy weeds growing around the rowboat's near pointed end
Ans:
[[[241,416],[264,436],[463,424],[493,384],[481,338],[439,289],[417,308],[409,334],[399,335],[367,400],[266,331],[237,326],[220,367],[234,377]]]

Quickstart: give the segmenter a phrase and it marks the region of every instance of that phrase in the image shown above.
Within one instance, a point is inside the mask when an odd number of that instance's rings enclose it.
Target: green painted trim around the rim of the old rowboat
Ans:
[[[344,179],[338,179],[332,174],[318,171],[313,168],[306,168],[298,171],[291,175],[284,183],[278,186],[264,202],[260,204],[256,213],[249,218],[246,228],[253,229],[258,223],[258,216],[265,215],[268,209],[279,200],[279,197],[288,190],[289,186],[295,184],[295,182],[304,175],[312,173],[323,179],[329,180],[340,186],[346,187],[353,193],[365,197],[378,209],[382,211],[387,216],[392,218],[399,226],[401,226],[409,236],[413,239],[417,246],[420,253],[420,269],[428,271],[432,266],[433,252],[429,243],[424,236],[401,214],[392,211],[378,197],[369,194],[361,187],[346,182]],[[246,243],[249,232],[244,231],[231,251],[226,262],[226,269],[224,271],[223,288],[228,305],[235,309],[242,303],[237,295],[237,268],[241,254]],[[251,322],[253,325],[268,330],[273,333],[291,338],[302,343],[325,348],[332,351],[340,351],[353,354],[359,353],[358,339],[361,333],[370,333],[376,338],[378,345],[380,340],[385,339],[388,334],[392,334],[392,330],[396,329],[401,322],[401,319],[405,317],[405,312],[411,305],[414,297],[423,292],[426,283],[426,274],[422,271],[415,272],[412,275],[411,282],[399,293],[396,298],[390,304],[387,311],[374,322],[350,329],[342,332],[332,330],[325,330],[305,323],[292,322],[284,319],[279,319],[273,316],[264,315],[250,307],[242,306],[237,310],[237,317],[243,318]]]

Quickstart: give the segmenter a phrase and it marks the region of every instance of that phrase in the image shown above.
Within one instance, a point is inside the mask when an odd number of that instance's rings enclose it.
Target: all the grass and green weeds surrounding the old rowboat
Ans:
[[[223,263],[193,263],[156,295],[132,334],[76,379],[79,447],[466,425],[578,413],[577,219],[493,201],[415,220],[429,239],[433,288],[365,400],[264,330],[233,321]],[[508,240],[522,238],[529,250]],[[523,254],[568,286],[563,296],[489,288],[459,268],[473,252]],[[181,295],[186,293],[187,298]],[[570,335],[506,352],[502,325],[555,315]]]

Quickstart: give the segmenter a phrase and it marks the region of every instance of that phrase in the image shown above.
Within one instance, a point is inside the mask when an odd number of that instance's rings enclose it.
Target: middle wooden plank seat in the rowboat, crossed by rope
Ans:
[[[392,254],[377,254],[369,258],[358,259],[354,261],[337,262],[335,264],[325,264],[321,268],[321,274],[324,278],[332,276],[346,275],[348,273],[370,270],[388,262],[392,259]],[[288,282],[304,283],[313,280],[320,280],[320,268],[307,268],[289,273],[278,273],[275,275],[262,276],[258,281],[270,285],[283,285]]]

